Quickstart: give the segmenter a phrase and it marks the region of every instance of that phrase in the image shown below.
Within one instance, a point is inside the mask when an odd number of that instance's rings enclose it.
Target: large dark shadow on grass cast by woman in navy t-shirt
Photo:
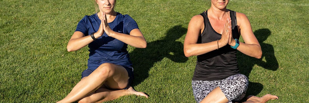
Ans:
[[[186,62],[188,58],[184,56],[184,45],[176,41],[186,33],[187,29],[176,25],[166,32],[166,36],[160,40],[147,43],[144,49],[136,48],[130,54],[134,68],[134,80],[132,87],[140,84],[148,78],[148,72],[155,62],[163,58],[169,58],[174,62]],[[162,66],[164,67],[164,66]]]

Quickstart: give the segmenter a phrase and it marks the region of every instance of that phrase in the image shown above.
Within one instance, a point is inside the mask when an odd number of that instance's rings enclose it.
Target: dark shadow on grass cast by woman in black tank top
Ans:
[[[263,67],[268,70],[276,71],[279,67],[278,61],[274,55],[273,45],[266,44],[264,41],[268,38],[271,34],[271,31],[267,28],[259,29],[254,32],[257,40],[259,41],[261,48],[262,48],[262,57],[260,59],[249,57],[241,52],[238,51],[237,53],[237,61],[238,66],[240,69],[240,73],[246,75],[248,78],[252,67],[256,64],[257,66]],[[265,61],[262,59],[265,58]],[[263,89],[263,84],[250,82],[249,87],[246,93],[248,95],[257,95]]]

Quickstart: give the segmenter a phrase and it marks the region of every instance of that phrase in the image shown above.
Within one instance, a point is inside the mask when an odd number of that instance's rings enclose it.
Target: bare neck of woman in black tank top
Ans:
[[[221,20],[223,17],[225,17],[227,14],[228,10],[225,8],[223,9],[218,9],[213,4],[211,4],[210,9],[208,9],[208,14],[211,14],[212,17],[218,18]]]

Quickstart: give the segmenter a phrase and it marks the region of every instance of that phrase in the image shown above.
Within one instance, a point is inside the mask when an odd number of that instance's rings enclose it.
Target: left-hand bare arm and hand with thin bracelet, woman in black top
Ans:
[[[201,15],[195,15],[189,22],[188,32],[184,39],[184,55],[186,57],[201,55],[213,51],[215,49],[227,45],[231,34],[231,21],[227,19],[222,37],[218,41],[212,41],[208,43],[197,44],[198,36],[201,35],[204,30],[204,19]]]

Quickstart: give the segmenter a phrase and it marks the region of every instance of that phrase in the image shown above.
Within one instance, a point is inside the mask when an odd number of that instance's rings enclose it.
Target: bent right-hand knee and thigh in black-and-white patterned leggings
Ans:
[[[248,77],[236,74],[223,79],[219,87],[228,101],[240,101],[246,95],[248,84]]]

